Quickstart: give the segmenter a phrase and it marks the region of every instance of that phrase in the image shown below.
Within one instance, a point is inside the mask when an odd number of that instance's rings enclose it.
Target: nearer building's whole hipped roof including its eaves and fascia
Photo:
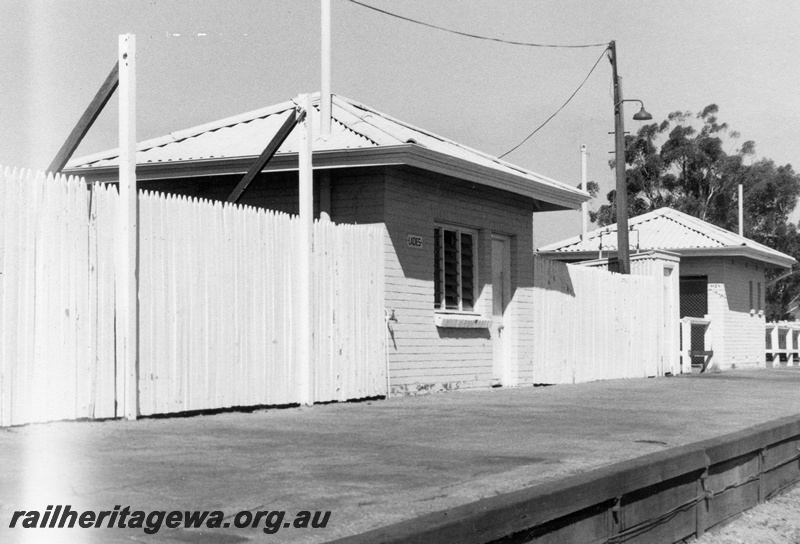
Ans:
[[[516,167],[447,138],[419,129],[344,97],[333,96],[335,129],[328,138],[319,135],[319,96],[312,98],[315,167],[336,168],[353,164],[408,164],[441,174],[461,177],[516,194],[530,196],[537,209],[574,209],[590,197],[574,187]],[[137,145],[137,172],[149,179],[159,176],[220,175],[247,171],[266,146],[297,99],[254,110],[186,130],[172,132]],[[296,168],[299,131],[281,145],[265,171]],[[369,151],[383,148],[385,152]],[[118,163],[116,149],[70,161],[65,173],[111,181]],[[332,159],[339,162],[333,164]],[[323,162],[319,162],[322,160]],[[409,161],[409,162],[396,162]],[[173,163],[172,166],[155,166]],[[292,166],[293,165],[293,166]]]

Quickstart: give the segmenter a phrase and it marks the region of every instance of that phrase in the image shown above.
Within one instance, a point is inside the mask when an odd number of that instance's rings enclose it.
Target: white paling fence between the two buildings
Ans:
[[[533,375],[538,383],[662,376],[658,278],[534,259]]]

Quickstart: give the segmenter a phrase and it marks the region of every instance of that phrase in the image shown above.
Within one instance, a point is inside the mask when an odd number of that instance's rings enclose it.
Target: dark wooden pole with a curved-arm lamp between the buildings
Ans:
[[[649,121],[653,118],[644,109],[641,100],[623,100],[622,84],[617,75],[617,44],[612,41],[611,68],[614,78],[614,152],[617,173],[617,262],[620,274],[631,273],[630,248],[628,246],[628,189],[625,182],[625,123],[622,117],[623,102],[638,102],[641,109],[633,116],[636,121]]]

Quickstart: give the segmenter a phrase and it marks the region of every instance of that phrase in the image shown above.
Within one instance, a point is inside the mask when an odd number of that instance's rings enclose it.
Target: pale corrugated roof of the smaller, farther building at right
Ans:
[[[663,249],[682,255],[711,255],[715,251],[733,250],[765,262],[791,266],[793,257],[739,236],[697,217],[672,208],[659,208],[628,221],[631,249]],[[617,225],[589,232],[585,239],[573,236],[539,248],[539,253],[553,255],[617,250]]]

